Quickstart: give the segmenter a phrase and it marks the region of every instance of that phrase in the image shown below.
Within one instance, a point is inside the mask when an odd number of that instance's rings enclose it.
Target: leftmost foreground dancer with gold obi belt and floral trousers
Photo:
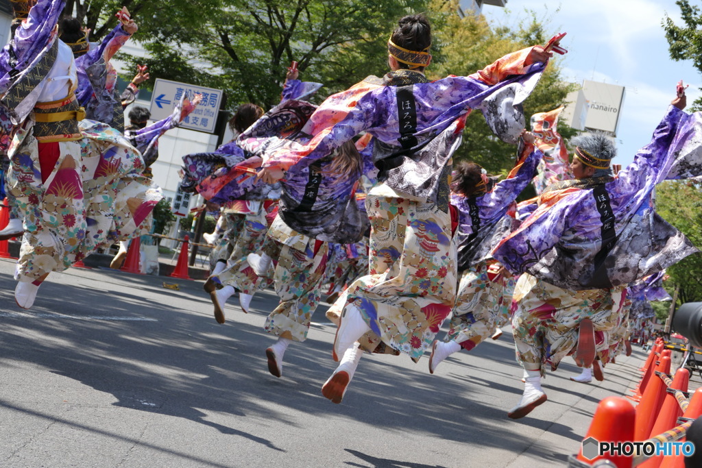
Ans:
[[[42,281],[131,234],[161,199],[121,133],[84,121],[73,54],[55,34],[65,1],[41,0],[0,53],[0,121],[14,132],[8,185],[24,220],[15,300],[32,307]]]

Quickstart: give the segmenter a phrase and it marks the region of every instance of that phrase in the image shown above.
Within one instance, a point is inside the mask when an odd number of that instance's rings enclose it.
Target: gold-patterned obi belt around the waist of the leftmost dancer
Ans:
[[[34,106],[34,138],[42,143],[80,140],[83,137],[78,121],[85,116],[85,109],[78,105],[73,93],[58,101],[37,102]]]

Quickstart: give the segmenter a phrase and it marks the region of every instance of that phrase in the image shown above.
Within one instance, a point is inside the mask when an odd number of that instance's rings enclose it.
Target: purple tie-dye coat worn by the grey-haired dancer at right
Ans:
[[[670,106],[649,145],[600,186],[604,193],[597,187],[571,187],[542,194],[540,206],[497,246],[494,257],[513,273],[529,272],[560,288],[588,290],[633,283],[696,253],[681,232],[655,213],[650,200],[659,182],[702,173],[699,135],[702,114]],[[607,226],[602,220],[612,217],[616,237],[603,246]]]

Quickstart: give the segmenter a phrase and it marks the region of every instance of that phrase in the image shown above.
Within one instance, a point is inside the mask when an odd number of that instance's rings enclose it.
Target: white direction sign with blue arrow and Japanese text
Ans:
[[[156,79],[150,106],[151,120],[166,119],[173,113],[173,107],[180,102],[183,95],[192,100],[195,94],[202,95],[200,105],[180,123],[182,128],[214,133],[217,116],[222,105],[222,90],[204,88],[167,79]]]

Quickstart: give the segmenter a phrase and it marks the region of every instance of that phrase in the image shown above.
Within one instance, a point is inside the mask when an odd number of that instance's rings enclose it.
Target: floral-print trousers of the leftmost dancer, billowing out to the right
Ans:
[[[37,279],[128,238],[162,196],[143,177],[136,149],[109,126],[84,120],[82,140],[38,143],[28,123],[15,135],[8,185],[25,228],[15,276]],[[43,151],[58,153],[44,182]]]

